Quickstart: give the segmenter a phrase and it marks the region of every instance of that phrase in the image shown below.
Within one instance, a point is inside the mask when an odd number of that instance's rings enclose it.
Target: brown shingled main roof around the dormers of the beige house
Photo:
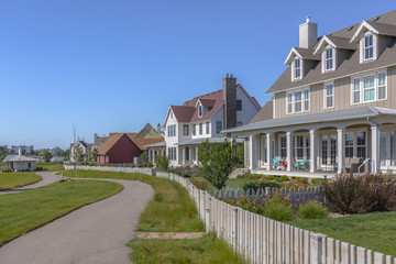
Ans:
[[[375,21],[374,21],[375,20]],[[385,28],[382,24],[389,24],[396,26],[396,10],[389,11],[387,13],[374,16],[373,19],[366,20],[369,24],[375,23],[376,28],[385,31]],[[370,23],[372,22],[372,23]],[[331,35],[336,37],[343,37],[351,40],[355,32],[359,30],[361,23],[356,23],[351,26],[346,26],[342,30],[332,32]],[[393,28],[393,26],[392,26]],[[334,38],[333,38],[334,40]],[[278,79],[270,87],[266,94],[274,94],[279,91],[285,91],[293,88],[300,88],[307,85],[320,84],[324,81],[332,80],[334,78],[342,78],[350,75],[363,73],[366,70],[372,70],[381,67],[387,67],[396,65],[396,40],[394,40],[380,54],[376,61],[370,63],[360,63],[360,54],[358,51],[350,51],[346,58],[340,64],[340,66],[330,73],[321,73],[321,62],[315,65],[305,77],[299,80],[292,81],[292,66],[288,66],[285,72],[278,77]],[[358,44],[355,44],[358,45]],[[318,43],[314,46],[312,50],[316,50]],[[358,46],[356,46],[358,47]]]

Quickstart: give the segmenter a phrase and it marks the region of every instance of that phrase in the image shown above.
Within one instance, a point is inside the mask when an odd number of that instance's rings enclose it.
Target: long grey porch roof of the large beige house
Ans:
[[[245,132],[245,131],[260,130],[260,129],[273,129],[273,128],[298,125],[304,123],[327,123],[327,122],[353,120],[361,118],[372,118],[380,116],[396,116],[396,110],[380,108],[380,107],[363,107],[363,108],[353,108],[348,110],[322,112],[315,114],[295,116],[290,118],[270,119],[261,122],[245,124],[234,129],[229,129],[222,131],[222,133]]]

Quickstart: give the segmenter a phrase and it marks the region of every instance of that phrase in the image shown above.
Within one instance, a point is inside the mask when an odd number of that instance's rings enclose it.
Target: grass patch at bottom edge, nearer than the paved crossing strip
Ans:
[[[209,233],[195,240],[143,240],[128,243],[132,249],[131,261],[148,263],[245,263],[233,254],[228,244]]]

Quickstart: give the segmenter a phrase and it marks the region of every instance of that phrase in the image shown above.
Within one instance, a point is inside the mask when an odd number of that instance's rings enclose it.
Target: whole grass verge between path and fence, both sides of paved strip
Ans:
[[[74,170],[65,176],[74,177]],[[153,186],[155,195],[141,215],[138,230],[147,232],[205,231],[196,205],[182,185],[144,174],[78,170],[78,177],[140,180]],[[207,234],[195,240],[143,240],[128,243],[134,263],[245,263],[226,242]]]

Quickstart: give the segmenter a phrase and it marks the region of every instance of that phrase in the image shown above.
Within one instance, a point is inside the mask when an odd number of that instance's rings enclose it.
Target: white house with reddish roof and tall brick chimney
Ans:
[[[166,150],[172,166],[198,164],[198,145],[208,140],[224,140],[221,132],[248,124],[260,111],[251,97],[232,75],[222,80],[222,89],[170,106],[165,117],[165,143],[147,145],[152,160]],[[243,140],[238,140],[243,142]]]

